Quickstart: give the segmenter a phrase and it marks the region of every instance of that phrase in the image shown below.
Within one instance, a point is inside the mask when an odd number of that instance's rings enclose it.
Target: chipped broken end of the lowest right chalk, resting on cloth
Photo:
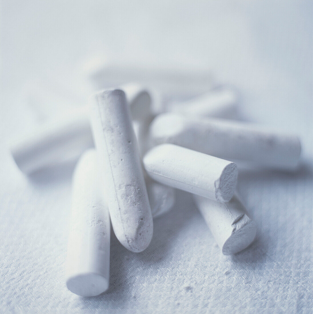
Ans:
[[[224,255],[236,254],[248,247],[255,239],[256,224],[254,221],[244,215],[241,220],[247,220],[247,223],[238,229],[235,229],[222,247]]]

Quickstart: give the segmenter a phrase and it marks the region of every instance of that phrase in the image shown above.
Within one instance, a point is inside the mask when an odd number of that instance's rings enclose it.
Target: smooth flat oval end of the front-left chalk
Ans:
[[[97,273],[79,274],[67,279],[66,287],[76,295],[96,296],[109,288],[109,279]]]

